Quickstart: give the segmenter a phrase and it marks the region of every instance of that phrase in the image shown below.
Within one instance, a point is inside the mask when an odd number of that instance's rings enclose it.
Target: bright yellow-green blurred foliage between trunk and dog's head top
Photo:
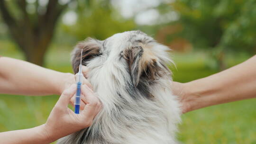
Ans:
[[[133,19],[124,19],[113,8],[109,0],[78,1],[74,10],[77,23],[72,26],[63,25],[62,28],[69,35],[83,40],[88,36],[103,40],[109,36],[135,28]]]

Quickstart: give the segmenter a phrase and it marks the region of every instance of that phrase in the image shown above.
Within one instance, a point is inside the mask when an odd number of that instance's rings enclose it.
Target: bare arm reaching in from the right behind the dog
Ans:
[[[199,80],[174,82],[183,113],[221,103],[256,98],[256,56],[225,71]]]

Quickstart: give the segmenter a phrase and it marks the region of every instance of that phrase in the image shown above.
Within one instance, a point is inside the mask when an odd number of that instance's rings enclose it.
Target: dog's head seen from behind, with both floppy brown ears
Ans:
[[[158,44],[141,31],[115,34],[103,41],[87,38],[78,43],[72,58],[75,73],[78,72],[81,49],[83,65],[87,65],[91,70],[103,67],[110,70],[110,67],[115,67],[111,70],[119,69],[124,75],[127,72],[130,84],[134,87],[137,87],[140,81],[152,83],[163,75],[170,74],[164,64],[170,61],[166,53],[170,49]]]

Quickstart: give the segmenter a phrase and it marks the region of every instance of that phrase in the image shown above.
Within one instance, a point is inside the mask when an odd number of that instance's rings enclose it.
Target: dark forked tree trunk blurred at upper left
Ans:
[[[39,0],[34,3],[27,1],[0,0],[0,14],[9,27],[10,36],[24,52],[27,61],[43,65],[57,20],[72,0],[65,4],[49,0],[44,6],[40,5]],[[34,6],[35,10],[28,11],[29,6]]]

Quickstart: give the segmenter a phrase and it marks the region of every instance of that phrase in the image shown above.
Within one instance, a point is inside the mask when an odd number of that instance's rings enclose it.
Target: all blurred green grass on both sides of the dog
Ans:
[[[3,46],[4,45],[4,46]],[[0,55],[22,59],[12,43],[0,42]],[[72,72],[71,48],[59,51],[56,46],[46,56],[46,67]],[[58,58],[56,58],[58,57]],[[206,67],[202,53],[173,54],[174,81],[187,82],[217,71]],[[229,66],[247,59],[229,59]],[[54,107],[58,96],[27,97],[0,95],[0,132],[41,125]],[[178,139],[184,144],[256,144],[256,99],[242,100],[195,110],[182,116]]]

